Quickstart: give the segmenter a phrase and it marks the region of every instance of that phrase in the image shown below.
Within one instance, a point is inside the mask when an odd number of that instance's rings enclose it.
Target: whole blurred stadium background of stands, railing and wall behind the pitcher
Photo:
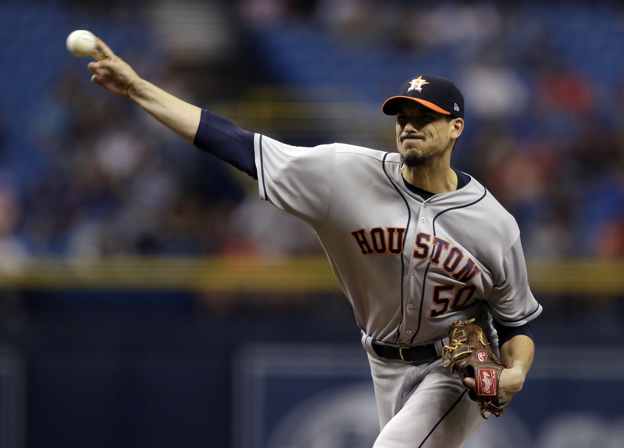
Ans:
[[[453,164],[514,214],[544,306],[525,389],[465,446],[623,446],[621,2],[2,0],[0,448],[359,448],[378,432],[312,229],[90,84],[74,29],[301,146],[392,151],[383,100],[419,72],[454,79]]]

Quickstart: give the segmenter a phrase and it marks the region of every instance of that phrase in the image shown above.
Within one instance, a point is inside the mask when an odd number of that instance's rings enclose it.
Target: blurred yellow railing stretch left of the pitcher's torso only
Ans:
[[[339,291],[325,257],[114,258],[30,261],[0,272],[5,287],[186,291]]]

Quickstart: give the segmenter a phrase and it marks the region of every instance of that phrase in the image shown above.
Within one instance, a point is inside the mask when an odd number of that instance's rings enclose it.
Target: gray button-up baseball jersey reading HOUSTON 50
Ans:
[[[261,199],[314,228],[358,326],[377,341],[424,344],[485,310],[506,326],[542,311],[514,218],[475,179],[424,201],[394,152],[255,134],[255,159]]]

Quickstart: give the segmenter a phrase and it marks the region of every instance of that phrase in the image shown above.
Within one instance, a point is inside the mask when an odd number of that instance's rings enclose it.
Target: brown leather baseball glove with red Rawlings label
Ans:
[[[492,353],[481,327],[474,319],[455,321],[449,327],[449,340],[449,345],[442,349],[442,362],[447,361],[444,367],[451,367],[451,372],[457,372],[462,380],[475,379],[476,390],[470,388],[468,394],[479,405],[484,419],[485,411],[502,416],[509,404],[501,404],[498,397],[500,372],[505,364]]]

